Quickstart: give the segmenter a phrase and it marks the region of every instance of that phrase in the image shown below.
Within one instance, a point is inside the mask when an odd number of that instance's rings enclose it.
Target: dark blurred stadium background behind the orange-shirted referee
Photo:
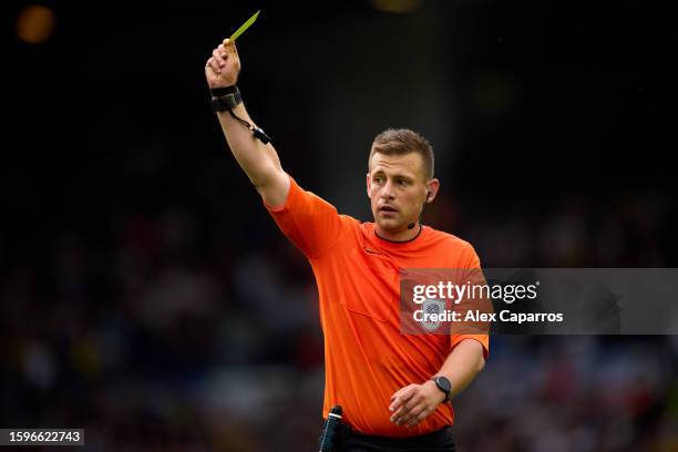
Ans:
[[[370,219],[371,140],[408,126],[442,182],[425,223],[483,266],[676,266],[678,35],[659,2],[47,2],[40,43],[17,31],[29,4],[0,7],[0,427],[84,427],[93,450],[314,450],[312,276],[203,73],[259,8],[245,102],[340,212]],[[675,337],[493,338],[458,444],[670,450],[677,358]]]

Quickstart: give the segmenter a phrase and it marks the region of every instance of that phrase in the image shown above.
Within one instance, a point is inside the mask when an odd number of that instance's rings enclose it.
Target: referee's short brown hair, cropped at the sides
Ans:
[[[423,161],[424,177],[433,178],[433,146],[427,138],[409,129],[387,129],[374,137],[370,161],[374,153],[384,155],[404,155],[414,152]]]

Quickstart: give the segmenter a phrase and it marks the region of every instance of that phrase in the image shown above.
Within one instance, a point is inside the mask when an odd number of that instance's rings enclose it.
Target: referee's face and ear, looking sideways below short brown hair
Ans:
[[[384,155],[376,152],[369,162],[368,196],[379,230],[398,234],[417,223],[430,191],[438,192],[438,179],[425,181],[423,158],[418,153]]]

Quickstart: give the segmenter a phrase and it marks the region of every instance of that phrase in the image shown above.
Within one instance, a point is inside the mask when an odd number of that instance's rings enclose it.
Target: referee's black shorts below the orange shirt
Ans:
[[[452,428],[417,436],[374,436],[351,431],[337,452],[454,452]]]

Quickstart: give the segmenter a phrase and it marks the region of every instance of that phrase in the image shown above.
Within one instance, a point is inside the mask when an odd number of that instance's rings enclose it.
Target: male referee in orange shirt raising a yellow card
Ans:
[[[308,258],[325,336],[323,415],[343,408],[351,433],[338,448],[453,450],[451,398],[484,367],[486,335],[405,335],[400,328],[403,269],[480,269],[473,247],[423,226],[435,198],[433,151],[421,135],[388,130],[374,138],[367,194],[374,223],[360,223],[300,188],[251,121],[236,82],[233,42],[218,45],[205,73],[228,145],[271,216]]]

